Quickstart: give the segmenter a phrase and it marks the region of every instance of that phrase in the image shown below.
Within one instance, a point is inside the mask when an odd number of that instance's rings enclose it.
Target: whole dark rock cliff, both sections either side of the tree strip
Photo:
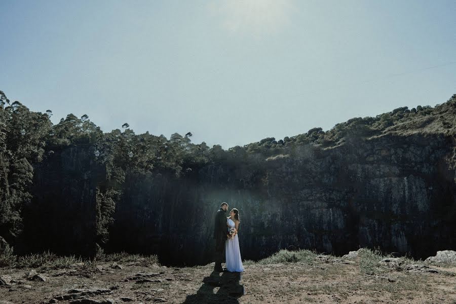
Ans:
[[[456,249],[456,102],[431,114],[326,146],[284,143],[273,157],[214,157],[180,178],[128,173],[104,247],[207,263],[214,214],[227,202],[240,210],[247,259],[291,245],[338,255],[379,247],[419,258]],[[73,145],[35,166],[22,251],[94,254],[96,186],[106,179],[94,154]]]

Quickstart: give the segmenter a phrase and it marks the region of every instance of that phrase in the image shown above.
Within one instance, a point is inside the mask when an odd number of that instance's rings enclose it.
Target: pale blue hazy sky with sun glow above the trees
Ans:
[[[456,93],[456,1],[0,1],[0,90],[227,149]]]

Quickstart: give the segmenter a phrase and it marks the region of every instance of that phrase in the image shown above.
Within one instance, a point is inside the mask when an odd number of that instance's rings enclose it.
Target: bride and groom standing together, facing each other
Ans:
[[[223,257],[226,261],[226,271],[243,272],[244,267],[241,260],[241,251],[239,250],[239,210],[233,208],[230,216],[226,217],[228,204],[221,203],[220,209],[215,214],[215,266],[214,271],[223,272],[221,263]],[[223,253],[225,256],[223,256]]]

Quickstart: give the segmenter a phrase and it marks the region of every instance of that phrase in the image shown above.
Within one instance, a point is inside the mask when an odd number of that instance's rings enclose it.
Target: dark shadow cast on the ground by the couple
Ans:
[[[239,281],[241,273],[213,271],[203,279],[203,285],[196,294],[188,295],[183,304],[188,303],[224,303],[238,304],[238,298],[244,294],[244,286]]]

